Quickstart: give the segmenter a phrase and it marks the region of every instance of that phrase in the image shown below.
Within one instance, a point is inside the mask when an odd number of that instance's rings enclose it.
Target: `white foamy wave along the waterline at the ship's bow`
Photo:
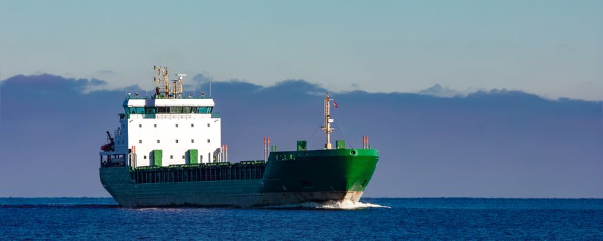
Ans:
[[[330,200],[327,202],[301,202],[290,205],[276,205],[264,207],[267,209],[331,209],[331,210],[356,210],[356,209],[369,209],[369,208],[385,208],[390,209],[391,207],[377,205],[368,202],[352,202],[351,200],[335,201]]]

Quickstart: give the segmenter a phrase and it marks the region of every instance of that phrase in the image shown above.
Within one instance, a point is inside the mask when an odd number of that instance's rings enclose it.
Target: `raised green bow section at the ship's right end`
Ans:
[[[378,160],[376,149],[273,152],[263,178],[265,202],[358,202]]]

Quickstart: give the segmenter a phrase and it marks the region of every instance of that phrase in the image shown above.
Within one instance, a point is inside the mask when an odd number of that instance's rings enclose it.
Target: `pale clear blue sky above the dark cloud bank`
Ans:
[[[603,99],[603,1],[0,1],[0,79],[152,88],[153,65],[333,91]]]

